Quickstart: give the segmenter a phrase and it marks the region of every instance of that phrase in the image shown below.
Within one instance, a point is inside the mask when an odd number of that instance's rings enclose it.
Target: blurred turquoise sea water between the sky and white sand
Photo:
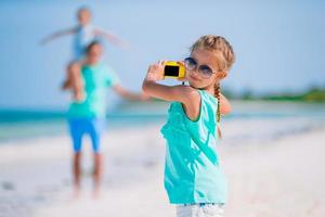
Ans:
[[[229,139],[233,141],[240,138],[275,138],[325,126],[324,103],[234,101],[232,104],[232,114],[222,118],[222,125]],[[107,112],[106,130],[162,125],[168,106],[166,102],[121,102]],[[238,127],[247,124],[258,126],[256,129]],[[68,135],[64,111],[0,111],[0,144],[13,140],[62,135]]]

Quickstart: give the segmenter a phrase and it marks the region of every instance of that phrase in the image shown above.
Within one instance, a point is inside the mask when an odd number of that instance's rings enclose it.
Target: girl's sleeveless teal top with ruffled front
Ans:
[[[226,200],[226,180],[216,150],[218,100],[205,90],[196,120],[186,116],[182,104],[173,102],[161,128],[167,146],[165,189],[170,203],[221,203]]]

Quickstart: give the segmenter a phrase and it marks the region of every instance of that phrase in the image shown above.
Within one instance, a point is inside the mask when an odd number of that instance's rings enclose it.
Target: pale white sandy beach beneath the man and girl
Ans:
[[[162,184],[159,128],[145,125],[105,133],[99,199],[91,192],[89,145],[79,199],[72,192],[67,136],[0,145],[0,216],[174,216]],[[324,126],[304,119],[244,119],[226,122],[223,130],[219,152],[230,187],[225,216],[325,216]]]

